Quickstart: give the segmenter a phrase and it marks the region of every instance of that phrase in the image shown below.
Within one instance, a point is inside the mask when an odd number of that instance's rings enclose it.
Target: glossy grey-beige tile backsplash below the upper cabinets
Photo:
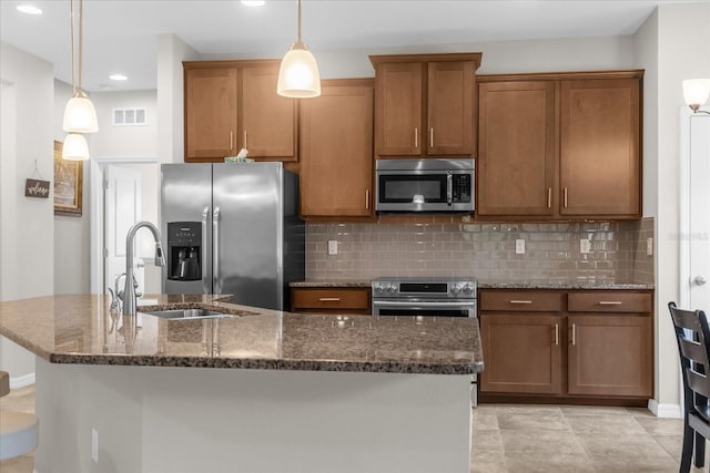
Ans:
[[[653,219],[612,223],[307,224],[306,278],[470,276],[488,280],[653,282]],[[525,254],[516,254],[516,239]],[[580,239],[590,251],[580,253]],[[328,255],[328,240],[337,255]]]

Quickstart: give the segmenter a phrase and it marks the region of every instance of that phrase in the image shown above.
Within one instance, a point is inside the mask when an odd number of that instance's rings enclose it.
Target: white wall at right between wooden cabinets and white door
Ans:
[[[651,19],[651,21],[653,21]],[[658,8],[658,127],[647,130],[656,135],[657,212],[657,400],[660,407],[679,404],[680,383],[678,349],[666,305],[679,299],[679,124],[682,81],[710,78],[710,3],[661,4]],[[653,100],[651,100],[653,103]],[[652,177],[652,176],[647,176]],[[651,191],[652,193],[653,191]],[[653,205],[653,204],[651,204]],[[651,208],[650,212],[653,212]]]

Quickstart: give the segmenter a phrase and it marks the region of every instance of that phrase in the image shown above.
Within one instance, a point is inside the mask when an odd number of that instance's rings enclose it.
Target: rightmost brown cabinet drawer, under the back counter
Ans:
[[[570,312],[651,312],[650,294],[622,291],[570,292],[567,310]]]

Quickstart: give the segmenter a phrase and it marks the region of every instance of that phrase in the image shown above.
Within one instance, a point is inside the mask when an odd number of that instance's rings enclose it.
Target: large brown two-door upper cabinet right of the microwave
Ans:
[[[477,215],[639,218],[642,76],[478,76]]]

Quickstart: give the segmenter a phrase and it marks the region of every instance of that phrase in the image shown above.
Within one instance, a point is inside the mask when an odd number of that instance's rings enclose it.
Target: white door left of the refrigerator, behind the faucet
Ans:
[[[106,165],[104,171],[104,284],[113,289],[116,276],[125,273],[125,237],[131,226],[141,220],[141,173]],[[133,251],[134,255],[140,255]],[[133,270],[143,292],[143,266],[134,258]],[[121,288],[123,281],[121,281]]]

